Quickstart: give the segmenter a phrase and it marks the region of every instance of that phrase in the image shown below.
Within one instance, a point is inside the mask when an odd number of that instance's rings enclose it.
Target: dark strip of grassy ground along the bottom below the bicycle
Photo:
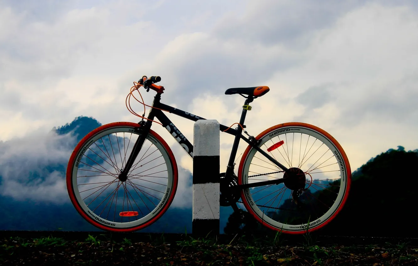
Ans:
[[[418,265],[418,249],[407,242],[324,246],[307,233],[301,243],[285,245],[281,232],[270,236],[236,234],[222,239],[209,235],[195,238],[185,232],[175,241],[168,241],[164,234],[149,234],[140,242],[129,236],[88,234],[82,241],[52,235],[0,238],[0,264],[20,261],[43,265],[65,259],[68,265]]]

